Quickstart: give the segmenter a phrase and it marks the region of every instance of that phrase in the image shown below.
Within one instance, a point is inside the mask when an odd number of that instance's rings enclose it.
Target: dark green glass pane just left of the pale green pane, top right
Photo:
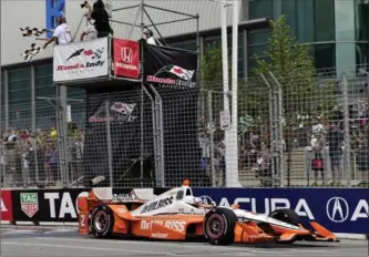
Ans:
[[[335,0],[315,0],[314,12],[315,41],[335,41]]]

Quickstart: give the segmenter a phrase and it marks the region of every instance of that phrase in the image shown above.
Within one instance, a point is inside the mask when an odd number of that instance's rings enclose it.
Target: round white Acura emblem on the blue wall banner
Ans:
[[[335,223],[344,223],[349,216],[349,206],[342,197],[331,197],[327,202],[327,216]]]

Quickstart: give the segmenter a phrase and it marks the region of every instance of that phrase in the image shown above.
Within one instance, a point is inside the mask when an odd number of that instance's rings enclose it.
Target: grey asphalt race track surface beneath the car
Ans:
[[[212,246],[207,243],[165,243],[144,240],[106,240],[80,236],[74,228],[18,228],[2,226],[2,257],[92,257],[92,256],[173,256],[173,257],[363,257],[367,240],[340,243],[298,243],[294,245]]]

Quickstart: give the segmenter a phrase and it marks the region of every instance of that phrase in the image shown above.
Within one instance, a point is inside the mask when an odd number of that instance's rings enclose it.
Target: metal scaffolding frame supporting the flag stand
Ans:
[[[160,37],[160,40],[164,43],[164,45],[161,45],[161,48],[170,48],[170,49],[175,49],[171,48],[166,42],[165,39],[163,38],[162,33],[160,32],[158,27],[164,25],[164,24],[170,24],[174,22],[183,22],[183,21],[188,21],[188,20],[195,20],[196,21],[196,54],[197,54],[197,74],[199,74],[199,66],[201,66],[201,61],[199,61],[199,16],[198,13],[196,14],[189,14],[189,13],[184,13],[184,12],[178,12],[165,8],[160,8],[151,4],[146,4],[144,0],[141,0],[140,4],[135,6],[129,6],[129,7],[123,7],[123,8],[117,8],[113,9],[113,12],[117,11],[126,11],[126,10],[132,10],[136,9],[136,16],[134,22],[124,22],[124,21],[119,21],[114,19],[110,19],[112,23],[117,23],[117,24],[123,24],[123,25],[130,25],[131,27],[131,33],[135,28],[141,29],[141,32],[144,32],[145,29],[153,28],[157,35]],[[184,18],[178,18],[175,20],[170,20],[170,21],[164,21],[160,23],[155,23],[151,16],[147,12],[147,9],[155,9],[160,10],[163,12],[168,12],[168,13],[174,13]],[[150,24],[144,24],[144,17],[150,21]],[[137,19],[141,19],[140,23],[137,23]],[[84,19],[84,16],[81,19],[80,25],[82,24]],[[74,37],[75,38],[75,37]],[[160,93],[154,89],[154,86],[148,85],[148,90],[153,92],[151,94],[147,90],[147,88],[144,84],[144,63],[145,60],[142,56],[140,61],[140,79],[129,79],[129,78],[117,78],[111,74],[111,45],[112,45],[112,38],[109,35],[107,40],[107,54],[109,54],[109,72],[107,76],[103,78],[96,78],[96,79],[84,79],[82,80],[75,80],[75,81],[68,81],[68,82],[53,82],[55,86],[55,112],[57,112],[57,127],[58,127],[58,147],[60,150],[59,152],[59,160],[60,160],[60,172],[61,172],[61,178],[63,183],[63,187],[70,187],[78,185],[78,182],[83,179],[82,177],[78,177],[76,179],[70,182],[69,177],[69,158],[68,158],[68,123],[66,123],[66,106],[68,106],[68,99],[66,99],[66,88],[71,86],[73,84],[79,84],[79,83],[89,83],[89,84],[100,84],[100,83],[122,83],[122,81],[126,82],[133,82],[141,84],[141,99],[143,101],[144,95],[147,96],[151,102],[152,102],[152,115],[153,115],[153,126],[154,126],[154,155],[155,155],[155,179],[156,186],[164,187],[165,186],[165,181],[164,181],[164,146],[163,146],[163,106],[162,106],[162,97]],[[141,44],[141,52],[143,51],[143,45]],[[186,50],[182,50],[186,51]],[[194,51],[191,51],[194,52]],[[197,75],[197,82],[198,82],[198,75]],[[142,104],[143,106],[143,104]],[[106,106],[106,111],[109,111]],[[143,107],[141,107],[141,119],[143,119]],[[109,185],[113,186],[113,161],[112,161],[112,153],[111,153],[111,134],[110,134],[110,123],[107,122],[106,124],[106,141],[107,141],[107,153],[109,153]],[[140,167],[141,167],[141,175],[139,178],[132,178],[132,179],[140,179],[141,183],[143,183],[144,179],[144,162],[145,157],[143,156],[143,121],[141,121],[141,156],[137,162],[140,162]],[[124,176],[124,175],[123,175]],[[123,177],[124,179],[124,177]],[[127,179],[127,178],[125,178]],[[142,184],[143,185],[143,184]]]

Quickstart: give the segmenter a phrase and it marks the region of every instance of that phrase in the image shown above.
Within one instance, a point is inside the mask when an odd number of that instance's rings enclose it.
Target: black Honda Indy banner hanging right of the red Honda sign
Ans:
[[[145,81],[161,88],[196,88],[197,53],[145,44]]]

